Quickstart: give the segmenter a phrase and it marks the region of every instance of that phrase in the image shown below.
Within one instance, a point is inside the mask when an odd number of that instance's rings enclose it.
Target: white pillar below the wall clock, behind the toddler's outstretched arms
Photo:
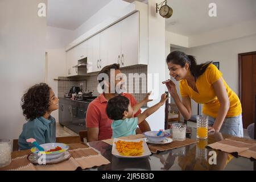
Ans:
[[[160,101],[161,93],[164,93],[165,87],[162,80],[165,79],[165,19],[155,12],[155,5],[161,1],[148,1],[148,67],[147,73],[158,74],[156,86],[158,87],[158,97],[154,101],[148,102],[148,106],[152,106]],[[150,91],[149,81],[147,81],[147,90]],[[164,129],[164,106],[152,114],[147,119],[151,130]]]

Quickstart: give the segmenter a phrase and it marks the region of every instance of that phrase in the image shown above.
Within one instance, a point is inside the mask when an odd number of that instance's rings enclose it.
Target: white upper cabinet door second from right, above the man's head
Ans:
[[[105,30],[108,42],[108,65],[121,64],[121,23],[118,22]]]

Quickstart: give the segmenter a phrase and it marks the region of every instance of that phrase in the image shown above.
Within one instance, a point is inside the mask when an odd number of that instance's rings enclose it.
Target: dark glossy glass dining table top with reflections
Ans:
[[[171,130],[166,130],[172,133]],[[187,138],[196,139],[196,128],[192,128],[191,133],[187,133]],[[255,171],[255,160],[243,158],[241,156],[233,156],[232,154],[205,148],[207,144],[218,142],[225,138],[230,137],[221,133],[208,133],[208,139],[199,140],[199,142],[190,144],[188,146],[175,148],[168,151],[158,152],[152,154],[147,158],[117,158],[112,155],[112,145],[102,142],[89,142],[89,146],[101,152],[110,164],[100,167],[87,169],[89,171],[159,171],[159,170],[239,170],[239,171]],[[212,152],[215,151],[216,164],[209,162]]]

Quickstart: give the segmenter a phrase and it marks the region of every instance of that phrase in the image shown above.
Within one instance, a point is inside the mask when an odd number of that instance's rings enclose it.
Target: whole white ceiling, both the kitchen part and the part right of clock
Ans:
[[[110,1],[112,0],[48,0],[47,25],[75,30]],[[185,36],[256,19],[256,0],[167,1],[174,14],[166,19],[166,30]],[[212,2],[217,5],[217,17],[208,15],[208,5]]]

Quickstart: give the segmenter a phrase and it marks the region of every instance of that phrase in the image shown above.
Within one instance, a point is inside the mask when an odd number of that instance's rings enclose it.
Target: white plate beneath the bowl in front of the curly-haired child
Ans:
[[[63,162],[64,160],[67,160],[71,157],[71,154],[68,151],[65,151],[59,158],[55,158],[55,159],[46,159],[46,164],[56,164],[56,163],[60,163]],[[30,154],[27,156],[27,159],[33,163],[33,164],[39,164],[38,159],[40,158],[40,156],[38,154]],[[41,160],[42,161],[42,160]]]

